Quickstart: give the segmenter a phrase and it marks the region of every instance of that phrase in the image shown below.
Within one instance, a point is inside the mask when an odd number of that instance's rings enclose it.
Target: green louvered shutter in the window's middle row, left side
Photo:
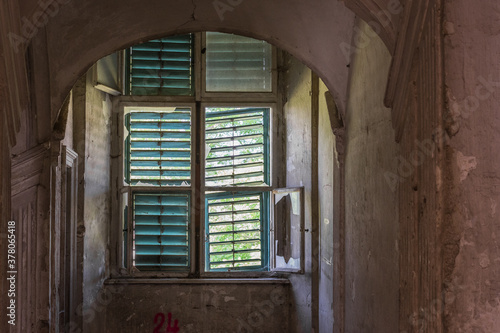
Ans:
[[[189,185],[191,109],[132,111],[126,122],[126,180],[131,185]]]

